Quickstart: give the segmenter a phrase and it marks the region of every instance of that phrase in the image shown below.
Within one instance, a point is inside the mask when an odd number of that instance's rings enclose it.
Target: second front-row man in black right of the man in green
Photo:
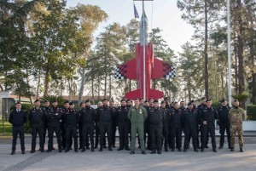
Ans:
[[[169,120],[169,131],[171,135],[171,149],[181,151],[182,144],[182,111],[178,108],[177,102],[173,103],[173,109]]]

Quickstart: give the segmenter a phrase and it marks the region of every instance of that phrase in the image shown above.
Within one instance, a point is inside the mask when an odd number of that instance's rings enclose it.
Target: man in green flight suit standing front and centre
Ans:
[[[128,112],[128,118],[131,120],[131,152],[130,154],[135,154],[135,143],[136,135],[138,134],[142,154],[145,152],[144,143],[144,121],[148,116],[146,109],[139,104],[139,100],[134,100],[134,106]]]

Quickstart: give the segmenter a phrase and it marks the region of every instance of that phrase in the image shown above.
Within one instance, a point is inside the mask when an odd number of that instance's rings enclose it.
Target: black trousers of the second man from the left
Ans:
[[[43,125],[32,125],[32,151],[35,151],[37,144],[37,136],[39,135],[40,150],[44,150],[44,126]]]

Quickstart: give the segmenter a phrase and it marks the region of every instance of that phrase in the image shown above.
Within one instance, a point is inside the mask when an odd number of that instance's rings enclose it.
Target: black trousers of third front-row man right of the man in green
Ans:
[[[185,128],[184,130],[185,133],[185,140],[184,140],[184,149],[189,148],[189,142],[192,137],[192,144],[194,149],[197,149],[197,133],[196,133],[196,128]]]

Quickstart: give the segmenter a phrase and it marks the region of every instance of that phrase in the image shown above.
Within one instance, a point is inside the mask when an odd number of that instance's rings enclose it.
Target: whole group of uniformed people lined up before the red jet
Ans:
[[[134,104],[133,104],[134,103]],[[97,108],[90,106],[90,100],[80,104],[76,110],[73,102],[65,101],[63,107],[58,106],[57,101],[51,104],[48,100],[41,106],[40,100],[34,101],[34,107],[26,117],[26,111],[21,109],[21,103],[15,104],[15,110],[9,114],[9,123],[12,123],[12,151],[15,154],[16,141],[19,135],[21,153],[25,154],[24,124],[27,120],[32,131],[31,153],[36,151],[37,136],[39,137],[39,151],[44,152],[46,133],[48,133],[47,152],[55,150],[54,133],[57,139],[58,151],[82,152],[90,149],[95,151],[99,145],[99,151],[108,148],[113,151],[116,144],[116,131],[119,131],[118,151],[131,151],[135,154],[138,137],[138,147],[142,154],[145,150],[151,154],[161,154],[165,151],[188,151],[190,140],[195,152],[208,148],[208,140],[211,137],[212,151],[217,152],[215,140],[215,121],[219,125],[220,141],[218,149],[224,148],[224,136],[226,134],[230,151],[235,149],[235,137],[238,134],[240,151],[243,151],[242,121],[245,112],[239,107],[238,100],[234,100],[232,107],[226,100],[221,101],[221,106],[212,107],[212,101],[201,99],[201,105],[195,106],[191,100],[187,107],[185,102],[172,102],[169,104],[165,98],[159,100],[120,100],[118,107],[113,101],[108,103],[104,99],[99,101]],[[107,147],[107,140],[108,147]],[[184,142],[182,145],[182,134]],[[199,136],[201,135],[201,136]],[[79,138],[79,139],[78,139]],[[99,141],[100,140],[100,141]],[[131,144],[129,145],[129,142]]]

